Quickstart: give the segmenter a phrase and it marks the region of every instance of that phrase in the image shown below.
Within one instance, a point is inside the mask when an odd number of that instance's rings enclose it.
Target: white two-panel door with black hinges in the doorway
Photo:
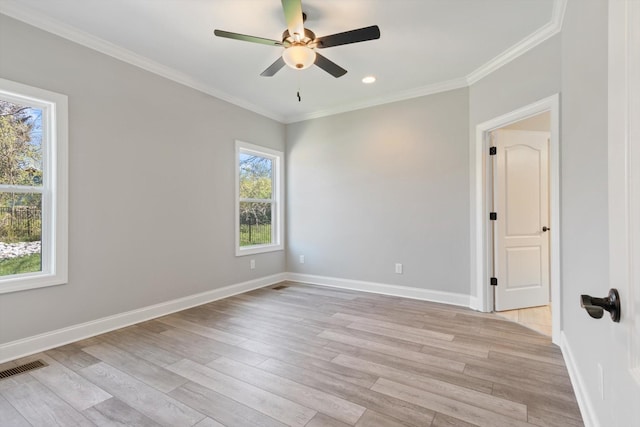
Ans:
[[[492,132],[497,311],[549,304],[549,133]]]

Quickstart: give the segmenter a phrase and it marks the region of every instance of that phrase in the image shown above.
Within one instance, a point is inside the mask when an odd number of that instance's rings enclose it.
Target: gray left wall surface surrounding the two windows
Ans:
[[[70,122],[69,283],[0,295],[0,343],[285,270],[250,271],[233,222],[234,139],[284,150],[284,125],[4,15],[0,77]]]

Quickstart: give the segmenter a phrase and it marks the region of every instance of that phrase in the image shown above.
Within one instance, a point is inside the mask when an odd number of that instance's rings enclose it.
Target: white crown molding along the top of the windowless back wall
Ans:
[[[460,89],[467,87],[467,80],[465,78],[448,80],[446,82],[434,83],[427,86],[422,86],[417,89],[405,90],[402,92],[396,92],[389,96],[381,96],[378,98],[369,99],[366,102],[357,102],[352,104],[342,105],[336,108],[329,108],[326,110],[316,111],[308,114],[300,114],[297,116],[289,116],[284,121],[285,124],[302,122],[305,120],[318,119],[321,117],[333,116],[335,114],[348,113],[349,111],[362,110],[364,108],[375,107],[377,105],[390,104],[392,102],[405,101],[407,99],[419,98],[421,96],[433,95],[441,92],[448,92],[454,89]]]

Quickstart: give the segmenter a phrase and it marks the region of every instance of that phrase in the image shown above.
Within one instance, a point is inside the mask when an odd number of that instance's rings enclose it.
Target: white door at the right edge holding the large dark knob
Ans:
[[[609,283],[620,324],[610,324],[611,426],[640,419],[640,2],[609,2]],[[605,313],[606,314],[606,313]],[[634,424],[635,425],[635,424]]]

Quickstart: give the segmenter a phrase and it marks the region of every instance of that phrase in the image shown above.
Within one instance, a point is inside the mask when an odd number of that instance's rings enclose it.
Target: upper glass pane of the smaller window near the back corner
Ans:
[[[273,160],[240,153],[240,198],[271,199]]]

